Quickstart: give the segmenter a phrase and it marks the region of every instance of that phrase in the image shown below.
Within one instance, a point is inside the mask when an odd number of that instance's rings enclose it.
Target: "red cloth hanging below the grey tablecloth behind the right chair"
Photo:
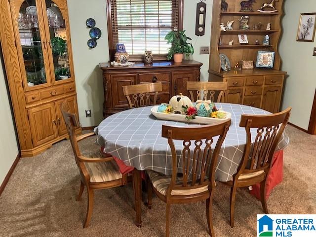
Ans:
[[[269,195],[274,187],[277,184],[282,182],[283,180],[283,150],[279,150],[275,153],[272,166],[268,174],[268,179],[266,182],[266,197],[267,200]],[[260,200],[260,183],[253,185],[250,194],[255,196],[257,199]]]

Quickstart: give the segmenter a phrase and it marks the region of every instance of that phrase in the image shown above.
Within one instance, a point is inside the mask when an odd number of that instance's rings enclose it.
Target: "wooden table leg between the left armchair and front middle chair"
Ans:
[[[141,227],[142,225],[142,177],[141,177],[141,171],[137,169],[133,170],[133,189],[134,189],[135,211],[136,211],[135,225],[137,227]]]

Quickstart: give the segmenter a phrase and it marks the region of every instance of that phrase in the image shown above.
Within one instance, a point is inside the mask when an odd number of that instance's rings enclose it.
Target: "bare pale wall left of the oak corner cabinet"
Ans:
[[[0,52],[1,53],[1,52]],[[19,153],[13,119],[6,90],[4,72],[0,62],[0,184]]]

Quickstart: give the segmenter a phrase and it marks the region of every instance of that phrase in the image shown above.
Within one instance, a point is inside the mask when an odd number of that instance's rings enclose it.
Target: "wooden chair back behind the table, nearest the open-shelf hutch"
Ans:
[[[216,102],[226,102],[225,93],[227,88],[227,82],[187,82],[187,90],[190,93],[191,101],[210,100],[215,102],[215,96],[218,93]]]

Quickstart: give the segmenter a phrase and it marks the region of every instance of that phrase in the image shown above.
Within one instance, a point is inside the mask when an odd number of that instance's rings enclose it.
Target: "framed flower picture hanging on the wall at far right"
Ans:
[[[316,30],[316,12],[302,13],[296,41],[314,42]]]

